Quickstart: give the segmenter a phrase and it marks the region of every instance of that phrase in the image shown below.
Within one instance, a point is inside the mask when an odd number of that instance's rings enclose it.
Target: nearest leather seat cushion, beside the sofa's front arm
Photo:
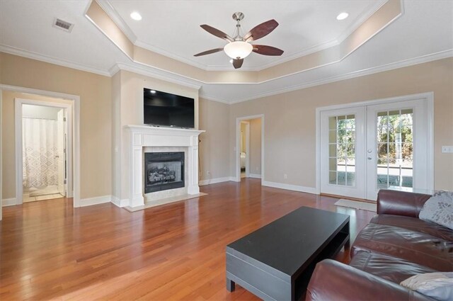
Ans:
[[[397,284],[417,274],[436,272],[427,266],[372,251],[357,252],[350,266]]]

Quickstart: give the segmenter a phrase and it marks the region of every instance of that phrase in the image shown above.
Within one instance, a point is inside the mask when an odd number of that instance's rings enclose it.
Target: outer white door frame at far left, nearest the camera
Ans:
[[[54,91],[45,91],[39,89],[31,89],[25,88],[21,86],[11,86],[0,84],[0,94],[3,91],[15,91],[18,93],[30,93],[35,94],[38,96],[49,96],[53,98],[62,98],[67,101],[71,101],[71,118],[72,118],[72,163],[73,163],[73,191],[68,190],[68,196],[72,194],[73,198],[73,206],[74,208],[80,207],[80,96],[67,94],[67,93],[59,93]],[[0,106],[1,106],[1,97],[0,97]],[[0,123],[0,131],[2,130],[1,123]],[[69,133],[68,133],[69,135]],[[22,157],[22,156],[21,156]],[[16,180],[17,181],[17,180]],[[22,183],[22,178],[20,183]],[[70,194],[71,193],[71,194]],[[17,195],[16,195],[17,197]],[[22,195],[21,195],[22,198]],[[1,202],[1,197],[0,197]],[[1,204],[0,204],[1,205]]]

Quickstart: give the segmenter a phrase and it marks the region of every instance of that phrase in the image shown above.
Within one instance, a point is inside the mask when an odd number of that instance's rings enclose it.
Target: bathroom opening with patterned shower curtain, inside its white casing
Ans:
[[[22,105],[23,203],[67,195],[67,110]]]

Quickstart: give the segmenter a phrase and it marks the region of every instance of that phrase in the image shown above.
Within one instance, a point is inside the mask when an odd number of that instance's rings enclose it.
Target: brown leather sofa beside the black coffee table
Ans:
[[[432,300],[399,285],[415,274],[453,271],[453,230],[418,218],[430,196],[379,191],[377,215],[352,244],[349,266],[318,263],[306,300]]]

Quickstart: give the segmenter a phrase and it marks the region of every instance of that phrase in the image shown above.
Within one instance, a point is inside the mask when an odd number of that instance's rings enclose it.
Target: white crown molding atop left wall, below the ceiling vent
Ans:
[[[110,72],[103,69],[93,68],[84,64],[75,62],[69,62],[64,59],[58,59],[57,57],[51,57],[50,55],[40,55],[36,52],[23,50],[21,48],[11,47],[8,45],[0,45],[0,52],[9,53],[10,55],[18,55],[19,57],[27,57],[28,59],[35,59],[41,62],[47,62],[50,64],[57,64],[62,67],[68,67],[71,69],[77,69],[85,72],[99,74],[103,76],[110,76]]]

